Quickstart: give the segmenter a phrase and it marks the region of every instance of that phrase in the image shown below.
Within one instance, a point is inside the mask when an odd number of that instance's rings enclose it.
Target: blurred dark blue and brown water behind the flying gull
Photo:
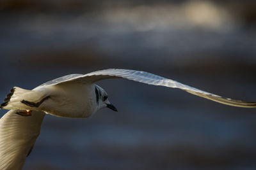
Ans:
[[[255,9],[253,0],[1,0],[1,99],[13,86],[115,67],[256,101]],[[24,169],[256,168],[255,109],[128,80],[99,85],[118,113],[47,115]]]

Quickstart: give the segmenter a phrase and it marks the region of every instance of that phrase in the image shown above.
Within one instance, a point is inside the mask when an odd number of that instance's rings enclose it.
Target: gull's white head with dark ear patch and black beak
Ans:
[[[107,92],[101,87],[99,87],[99,85],[95,85],[95,96],[98,105],[98,110],[107,107],[113,111],[117,111],[116,107],[109,102]]]

